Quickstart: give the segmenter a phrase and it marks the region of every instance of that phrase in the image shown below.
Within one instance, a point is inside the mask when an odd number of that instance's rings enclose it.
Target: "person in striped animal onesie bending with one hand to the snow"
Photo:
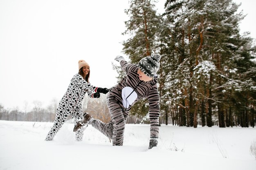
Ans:
[[[144,57],[138,64],[130,64],[124,57],[118,55],[121,68],[126,72],[126,77],[116,86],[110,88],[107,95],[108,109],[111,121],[108,124],[84,115],[74,131],[79,131],[84,124],[92,124],[94,128],[112,139],[113,146],[122,146],[124,141],[124,128],[128,112],[131,107],[142,98],[148,99],[150,118],[149,149],[157,146],[159,134],[159,92],[157,90],[157,71],[159,69],[159,54]]]

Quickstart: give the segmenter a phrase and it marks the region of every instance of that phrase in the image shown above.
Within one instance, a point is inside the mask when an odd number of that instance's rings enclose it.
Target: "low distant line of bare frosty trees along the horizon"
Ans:
[[[52,99],[50,104],[46,107],[42,106],[42,102],[32,102],[32,108],[28,109],[28,103],[24,103],[22,111],[18,107],[4,108],[0,104],[0,120],[8,121],[40,121],[40,122],[53,122],[56,116],[56,110],[58,108],[58,100]],[[83,113],[88,112],[96,119],[100,119],[103,122],[108,123],[110,121],[110,115],[108,111],[106,95],[101,94],[100,98],[92,99],[85,95],[82,103]],[[130,115],[127,119],[129,124],[139,124],[142,118]],[[67,121],[72,122],[71,117]],[[147,123],[143,122],[142,123]]]

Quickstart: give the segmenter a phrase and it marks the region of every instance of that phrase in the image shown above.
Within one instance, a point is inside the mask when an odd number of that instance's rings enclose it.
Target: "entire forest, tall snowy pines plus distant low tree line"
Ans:
[[[254,127],[256,124],[256,46],[250,33],[240,34],[245,15],[232,0],[166,0],[157,13],[153,0],[130,0],[124,12],[128,39],[123,53],[131,63],[159,53],[160,125]],[[120,80],[124,72],[113,64]],[[86,102],[85,102],[86,101]],[[39,101],[25,112],[0,105],[0,119],[54,121],[58,101]],[[88,106],[88,107],[87,107]],[[25,104],[26,108],[26,104]],[[83,110],[109,121],[106,97],[85,97]],[[148,102],[130,110],[126,123],[147,124]]]

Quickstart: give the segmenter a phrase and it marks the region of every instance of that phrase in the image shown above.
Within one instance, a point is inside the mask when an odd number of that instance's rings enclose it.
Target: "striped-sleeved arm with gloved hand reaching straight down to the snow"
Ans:
[[[149,119],[150,119],[150,141],[148,149],[157,146],[159,135],[159,92],[157,87],[153,87],[148,95]]]

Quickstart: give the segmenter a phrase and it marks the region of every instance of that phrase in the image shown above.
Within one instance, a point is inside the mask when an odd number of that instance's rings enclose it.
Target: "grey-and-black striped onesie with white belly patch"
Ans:
[[[160,111],[157,77],[149,82],[141,81],[137,74],[139,69],[137,64],[130,64],[125,60],[119,62],[121,68],[126,72],[126,77],[119,84],[110,88],[110,93],[107,95],[111,121],[105,124],[98,119],[92,119],[90,124],[112,139],[113,146],[122,146],[128,112],[139,99],[146,98],[149,102],[150,139],[157,140]]]

